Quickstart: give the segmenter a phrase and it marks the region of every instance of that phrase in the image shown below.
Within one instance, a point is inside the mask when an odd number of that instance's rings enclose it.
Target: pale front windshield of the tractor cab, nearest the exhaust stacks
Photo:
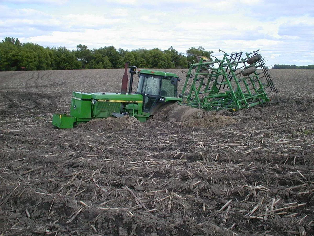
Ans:
[[[138,80],[138,93],[159,95],[160,76],[140,74]]]

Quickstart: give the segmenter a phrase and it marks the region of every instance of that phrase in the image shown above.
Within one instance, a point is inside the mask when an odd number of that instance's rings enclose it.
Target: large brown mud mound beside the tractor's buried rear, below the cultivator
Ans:
[[[221,127],[237,121],[230,116],[217,115],[201,109],[178,104],[167,104],[161,107],[149,121],[150,124],[180,123],[185,127]]]

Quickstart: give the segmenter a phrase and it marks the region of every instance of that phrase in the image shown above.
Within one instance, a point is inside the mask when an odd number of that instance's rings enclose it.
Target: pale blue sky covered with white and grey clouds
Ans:
[[[0,39],[44,47],[260,49],[266,65],[314,64],[314,0],[0,0]]]

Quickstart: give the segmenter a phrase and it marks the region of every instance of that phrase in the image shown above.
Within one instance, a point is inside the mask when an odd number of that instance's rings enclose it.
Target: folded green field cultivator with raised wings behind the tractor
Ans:
[[[187,72],[181,104],[204,110],[236,111],[268,102],[265,88],[277,90],[258,51],[245,53],[245,59],[241,59],[242,52],[230,55],[224,52],[223,59],[214,61],[198,57],[199,62],[191,64]]]

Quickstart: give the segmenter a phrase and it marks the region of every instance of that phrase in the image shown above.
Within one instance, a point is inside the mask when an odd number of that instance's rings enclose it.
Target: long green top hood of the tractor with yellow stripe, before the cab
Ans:
[[[101,102],[121,102],[121,103],[132,103],[137,101],[143,101],[141,94],[121,94],[121,93],[82,93],[73,92],[72,96],[74,99],[95,99]]]

